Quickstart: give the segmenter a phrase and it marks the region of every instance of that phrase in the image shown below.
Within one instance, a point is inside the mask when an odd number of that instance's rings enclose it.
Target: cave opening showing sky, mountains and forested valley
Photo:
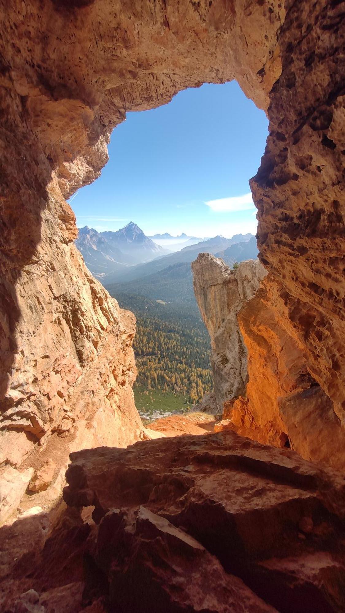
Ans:
[[[189,88],[127,113],[101,177],[69,200],[85,264],[136,315],[134,396],[144,420],[203,399],[204,411],[222,413],[191,264],[206,252],[236,270],[257,257],[249,179],[267,135],[265,113],[235,80]]]

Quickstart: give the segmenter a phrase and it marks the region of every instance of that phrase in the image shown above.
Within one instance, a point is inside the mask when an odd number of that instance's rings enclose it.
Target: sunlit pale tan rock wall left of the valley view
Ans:
[[[83,269],[77,251],[73,257],[77,268],[72,278],[73,268],[65,271],[63,294],[60,298],[52,294],[42,307],[43,340],[36,336],[37,311],[28,318],[30,326],[21,341],[26,357],[18,355],[10,384],[15,390],[9,389],[3,400],[6,410],[0,422],[6,428],[1,436],[5,463],[15,460],[15,466],[26,467],[51,458],[59,465],[54,487],[45,497],[51,503],[61,493],[69,452],[99,444],[126,446],[138,440],[142,428],[131,389],[136,376],[134,316],[121,310]],[[73,299],[71,314],[65,300],[76,291],[79,296]],[[42,293],[37,299],[42,304]],[[48,323],[50,318],[53,324]]]

